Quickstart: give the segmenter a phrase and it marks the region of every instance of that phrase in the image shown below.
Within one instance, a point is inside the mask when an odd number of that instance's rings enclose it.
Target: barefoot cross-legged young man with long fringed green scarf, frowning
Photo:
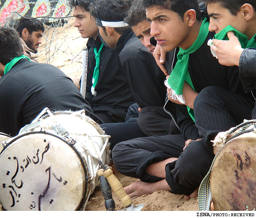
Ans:
[[[207,42],[214,33],[208,30],[209,22],[201,19],[197,0],[144,0],[144,4],[157,46],[166,52],[179,47],[176,58],[171,60],[174,68],[168,79],[168,85],[174,90],[172,96],[179,102],[184,100],[185,81],[199,95],[215,89],[218,90],[217,95],[225,94],[226,90],[232,91],[236,99],[229,101],[237,103],[235,109],[240,114],[229,124],[232,126],[249,118],[253,100],[242,89],[238,68],[219,65],[212,56]],[[226,97],[229,98],[228,95]],[[192,106],[195,109],[195,103]],[[184,194],[186,199],[197,195],[197,187],[208,172],[214,154],[213,149],[205,144],[204,132],[197,128],[197,116],[200,114],[197,115],[191,107],[176,105],[181,135],[134,139],[114,147],[112,158],[116,169],[141,180],[125,187],[132,198],[156,190]],[[214,110],[211,112],[216,113]],[[203,118],[205,123],[212,122],[208,117]],[[228,120],[229,117],[218,118],[221,119]]]

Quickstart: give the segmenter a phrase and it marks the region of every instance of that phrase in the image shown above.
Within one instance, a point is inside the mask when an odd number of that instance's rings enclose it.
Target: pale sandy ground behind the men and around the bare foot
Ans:
[[[82,69],[82,50],[86,39],[80,37],[74,28],[74,19],[61,28],[46,30],[45,38],[38,49],[39,62],[50,63],[61,69],[73,81],[78,82]],[[137,179],[116,173],[123,186]],[[117,195],[113,193],[116,209],[123,209]],[[157,191],[152,195],[143,195],[133,200],[133,204],[144,204],[142,210],[198,210],[197,198],[185,200],[183,195],[173,195],[168,191]],[[106,210],[100,187],[96,187],[90,196],[86,210]]]

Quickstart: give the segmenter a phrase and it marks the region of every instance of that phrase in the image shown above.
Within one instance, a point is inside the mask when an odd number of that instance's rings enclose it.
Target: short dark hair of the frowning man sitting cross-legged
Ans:
[[[161,6],[165,9],[172,10],[184,18],[184,14],[189,9],[194,9],[196,19],[201,19],[201,12],[198,5],[198,0],[143,0],[145,8]]]

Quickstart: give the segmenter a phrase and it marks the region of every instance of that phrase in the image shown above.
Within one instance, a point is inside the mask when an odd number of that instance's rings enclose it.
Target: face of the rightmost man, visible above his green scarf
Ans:
[[[238,12],[237,15],[234,16],[219,2],[208,4],[207,11],[210,17],[209,31],[218,33],[226,26],[231,25],[239,32],[246,32],[247,25],[241,13]]]

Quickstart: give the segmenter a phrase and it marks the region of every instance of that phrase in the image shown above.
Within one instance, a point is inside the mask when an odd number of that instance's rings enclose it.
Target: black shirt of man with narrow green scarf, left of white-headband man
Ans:
[[[109,111],[121,121],[125,120],[126,113],[131,104],[135,103],[130,85],[116,62],[117,54],[112,53],[109,47],[103,46],[100,54],[99,79],[95,86],[96,96],[91,93],[93,71],[96,65],[94,47],[97,52],[102,44],[99,37],[96,40],[89,38],[88,70],[86,96],[93,111]]]

